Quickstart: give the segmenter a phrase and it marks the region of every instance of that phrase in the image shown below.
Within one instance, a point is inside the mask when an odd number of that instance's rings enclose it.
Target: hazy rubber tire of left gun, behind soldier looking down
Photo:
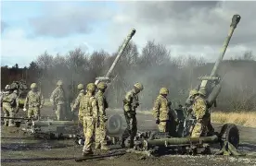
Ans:
[[[109,117],[107,122],[107,132],[110,135],[120,134],[122,131],[122,116],[114,114]]]

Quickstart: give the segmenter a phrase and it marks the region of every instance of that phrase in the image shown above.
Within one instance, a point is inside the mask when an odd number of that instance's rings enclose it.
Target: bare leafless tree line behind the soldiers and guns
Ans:
[[[2,66],[1,86],[3,88],[11,81],[22,78],[29,85],[37,82],[45,98],[48,98],[58,79],[62,79],[71,101],[77,95],[77,85],[95,82],[96,77],[106,75],[116,55],[104,50],[86,53],[80,48],[63,55],[45,52],[28,67]],[[112,81],[106,91],[109,106],[121,108],[125,92],[135,82],[141,82],[145,87],[139,95],[141,110],[152,108],[161,87],[170,90],[169,99],[173,107],[177,107],[184,104],[189,90],[198,85],[198,77],[211,73],[213,65],[203,57],[172,56],[166,46],[155,41],[147,41],[139,53],[136,44],[130,41],[111,74]],[[218,110],[255,110],[256,62],[251,52],[224,60],[218,74],[224,79],[217,99]]]

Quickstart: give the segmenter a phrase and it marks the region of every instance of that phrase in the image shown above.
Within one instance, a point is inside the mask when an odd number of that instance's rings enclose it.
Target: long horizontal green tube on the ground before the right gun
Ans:
[[[153,140],[144,140],[143,148],[148,150],[149,148],[168,147],[168,145],[184,145],[184,144],[197,144],[197,143],[216,143],[219,141],[219,137],[213,136],[201,136],[201,137],[172,137]]]

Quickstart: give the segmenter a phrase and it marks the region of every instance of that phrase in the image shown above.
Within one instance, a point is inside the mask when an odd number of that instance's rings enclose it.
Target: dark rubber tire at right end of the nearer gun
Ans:
[[[222,127],[220,136],[223,141],[228,141],[231,143],[235,148],[239,145],[239,130],[237,125],[234,124],[225,124]]]

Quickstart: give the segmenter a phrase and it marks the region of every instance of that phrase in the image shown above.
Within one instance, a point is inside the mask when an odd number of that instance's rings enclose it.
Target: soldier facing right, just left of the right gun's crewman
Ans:
[[[166,88],[160,89],[160,94],[154,103],[153,115],[156,118],[156,124],[159,126],[160,132],[167,132],[171,136],[174,135],[175,127],[173,126],[175,121],[177,122],[177,117],[171,110],[172,102],[167,100],[167,95],[169,90]]]

